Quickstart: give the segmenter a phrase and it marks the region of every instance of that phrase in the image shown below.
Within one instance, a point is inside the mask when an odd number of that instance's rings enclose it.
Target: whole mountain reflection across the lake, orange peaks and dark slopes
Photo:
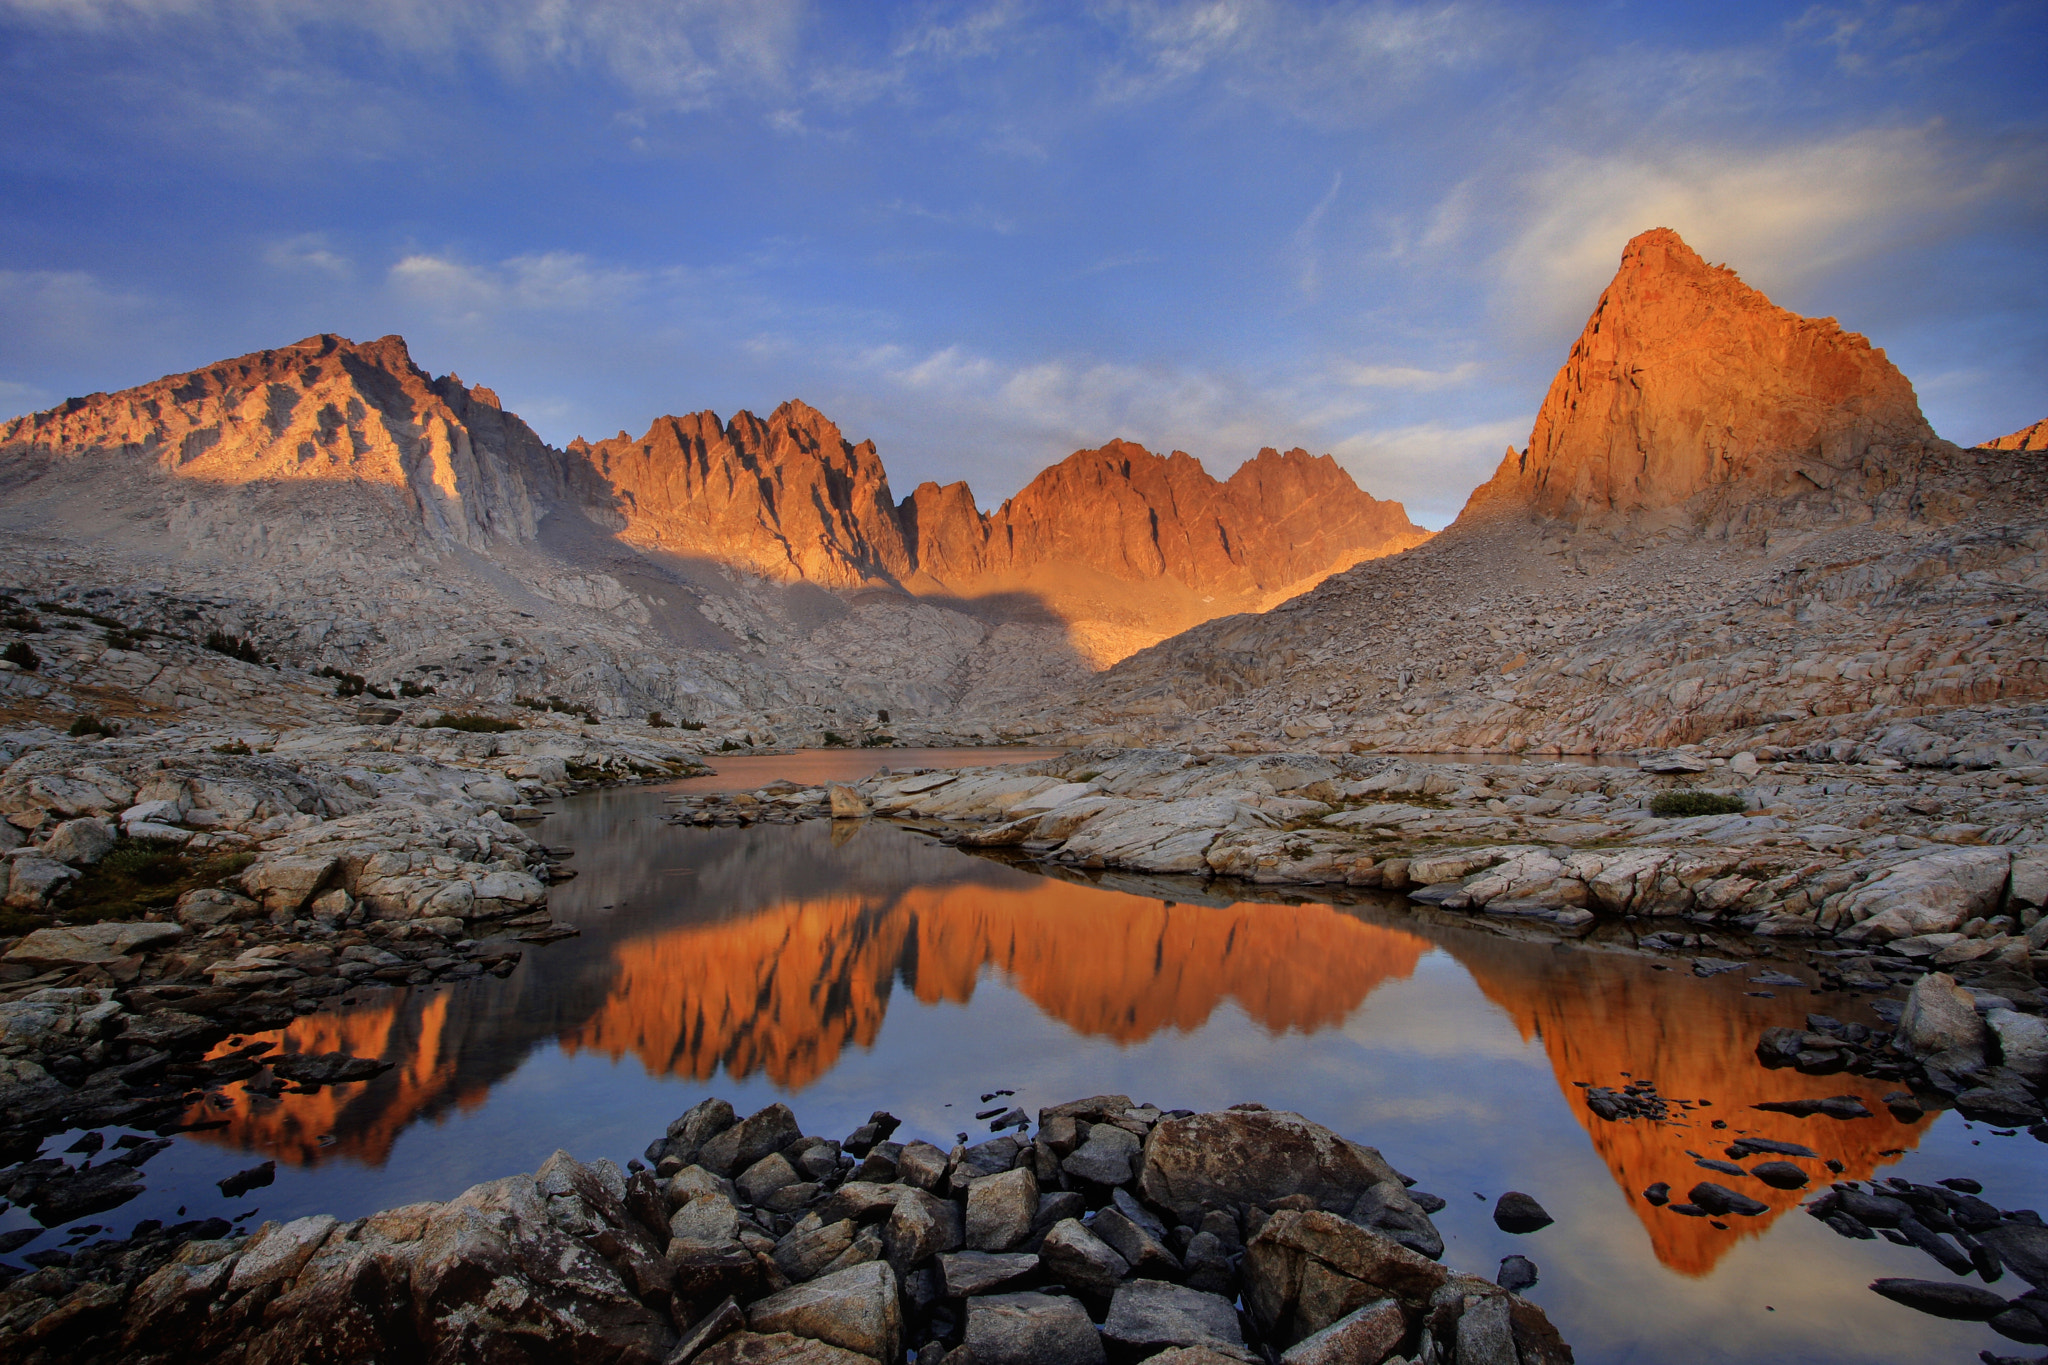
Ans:
[[[618,806],[610,819],[606,804]],[[1651,1181],[1683,1197],[1698,1179],[1724,1179],[1698,1169],[1694,1152],[1722,1156],[1735,1136],[1753,1134],[1802,1142],[1839,1160],[1847,1179],[1868,1179],[1931,1121],[1896,1124],[1882,1105],[1890,1087],[1759,1068],[1757,1031],[1802,1023],[1808,997],[1745,997],[1743,972],[1700,980],[1389,905],[1194,905],[1133,878],[1116,888],[1038,876],[887,825],[674,829],[631,792],[594,798],[582,814],[604,833],[569,835],[582,876],[557,888],[557,913],[582,937],[530,950],[506,980],[379,990],[295,1021],[274,1036],[287,1050],[395,1066],[313,1095],[242,1097],[227,1128],[203,1138],[297,1166],[379,1166],[408,1128],[483,1103],[543,1048],[633,1058],[651,1078],[764,1074],[801,1093],[848,1046],[877,1044],[897,990],[915,1007],[965,1007],[991,970],[1073,1036],[1118,1046],[1161,1029],[1200,1033],[1225,1003],[1268,1036],[1321,1036],[1343,1029],[1382,984],[1413,978],[1434,950],[1524,1042],[1540,1042],[1657,1259],[1683,1275],[1706,1275],[1802,1197],[1745,1181],[1772,1212],[1729,1230],[1649,1205],[1640,1191]],[[1661,1124],[1612,1124],[1587,1109],[1581,1083],[1630,1078],[1706,1107],[1673,1109]],[[1257,1093],[1255,1068],[1245,1091]],[[1874,1117],[1749,1107],[1837,1093],[1860,1095]]]

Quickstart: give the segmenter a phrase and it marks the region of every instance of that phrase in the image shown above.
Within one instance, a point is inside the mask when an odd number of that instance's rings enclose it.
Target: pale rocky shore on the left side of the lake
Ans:
[[[584,729],[0,731],[0,1158],[72,1126],[176,1132],[262,1068],[213,1056],[229,1033],[573,933],[547,911],[571,849],[520,825],[580,786],[702,772]]]

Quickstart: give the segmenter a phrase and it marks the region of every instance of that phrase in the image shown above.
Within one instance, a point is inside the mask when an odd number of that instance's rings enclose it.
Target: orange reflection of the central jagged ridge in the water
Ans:
[[[1321,905],[1212,909],[1059,882],[827,896],[623,943],[610,997],[563,1044],[655,1074],[803,1089],[846,1044],[874,1042],[899,972],[936,1005],[973,999],[993,966],[1075,1031],[1141,1042],[1200,1027],[1225,999],[1274,1031],[1331,1027],[1425,948]]]

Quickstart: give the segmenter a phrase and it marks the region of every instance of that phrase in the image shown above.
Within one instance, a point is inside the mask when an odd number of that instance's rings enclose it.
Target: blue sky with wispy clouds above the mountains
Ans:
[[[1440,526],[1622,244],[2048,415],[2048,8],[0,0],[0,409],[399,332],[543,436],[803,397],[985,505],[1112,436]]]

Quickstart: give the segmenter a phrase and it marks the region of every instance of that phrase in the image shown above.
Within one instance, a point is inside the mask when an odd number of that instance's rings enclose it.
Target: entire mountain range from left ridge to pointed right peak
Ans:
[[[897,497],[803,403],[553,448],[397,338],[319,336],[0,426],[0,577],[156,632],[0,700],[348,718],[326,669],[713,747],[2017,743],[1935,712],[2048,688],[2044,444],[1942,440],[1882,350],[1667,229],[1434,538],[1303,450],[1217,481],[1110,442],[983,512]]]

